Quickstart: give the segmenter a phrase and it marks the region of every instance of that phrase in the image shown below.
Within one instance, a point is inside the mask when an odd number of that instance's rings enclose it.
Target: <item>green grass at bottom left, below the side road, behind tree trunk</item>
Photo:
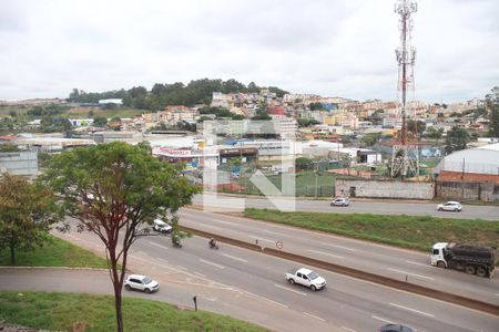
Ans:
[[[226,315],[179,310],[164,302],[123,298],[125,331],[268,331]],[[50,331],[115,331],[114,298],[74,293],[0,292],[0,321]]]

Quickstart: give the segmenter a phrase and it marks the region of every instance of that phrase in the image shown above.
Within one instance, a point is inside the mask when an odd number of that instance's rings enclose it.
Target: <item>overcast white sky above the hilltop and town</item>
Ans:
[[[499,1],[419,0],[415,98],[499,85]],[[397,98],[395,0],[0,0],[0,100],[236,79]]]

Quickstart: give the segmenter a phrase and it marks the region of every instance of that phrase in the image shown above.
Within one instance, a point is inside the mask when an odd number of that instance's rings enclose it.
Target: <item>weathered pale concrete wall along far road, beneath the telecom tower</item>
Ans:
[[[336,196],[432,199],[434,183],[400,180],[336,179]]]

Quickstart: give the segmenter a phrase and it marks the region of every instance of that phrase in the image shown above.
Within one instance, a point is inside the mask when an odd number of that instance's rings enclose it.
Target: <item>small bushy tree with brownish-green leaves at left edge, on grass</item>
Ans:
[[[12,266],[16,250],[41,247],[51,225],[61,220],[61,216],[48,188],[21,176],[0,175],[0,248],[10,249]]]

